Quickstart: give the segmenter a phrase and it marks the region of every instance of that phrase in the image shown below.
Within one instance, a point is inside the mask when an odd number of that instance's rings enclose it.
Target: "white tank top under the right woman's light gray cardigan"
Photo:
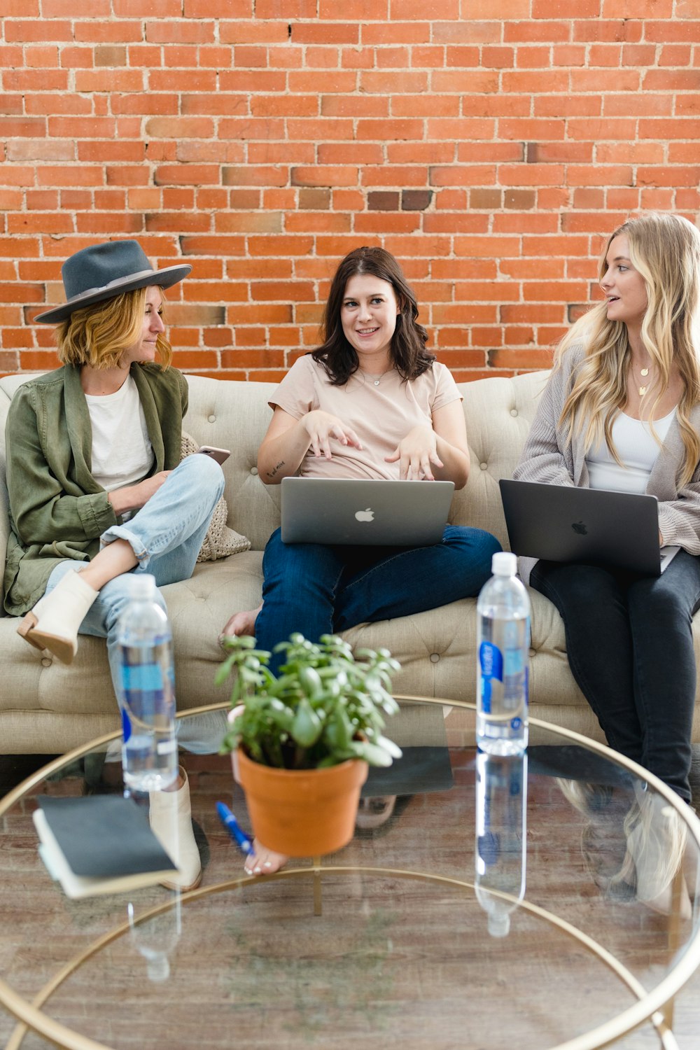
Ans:
[[[663,419],[654,420],[654,429],[660,441],[665,440],[675,415],[676,410],[673,408]],[[650,423],[621,412],[613,423],[613,443],[623,466],[615,462],[608,445],[601,441],[586,457],[591,488],[645,492],[649,476],[660,452]]]

